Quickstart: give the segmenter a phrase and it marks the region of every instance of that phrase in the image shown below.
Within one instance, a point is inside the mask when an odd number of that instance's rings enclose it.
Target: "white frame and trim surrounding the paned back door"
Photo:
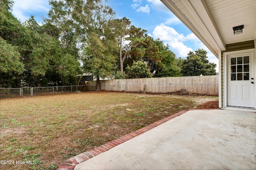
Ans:
[[[243,109],[238,107],[227,107],[227,55],[230,54],[239,54],[239,53],[246,53],[246,52],[254,52],[254,80],[256,79],[256,49],[244,49],[239,51],[230,51],[230,52],[224,52],[223,53],[223,106],[224,109],[230,109],[230,110],[240,110],[240,111],[256,111],[256,81],[254,81],[254,109]]]

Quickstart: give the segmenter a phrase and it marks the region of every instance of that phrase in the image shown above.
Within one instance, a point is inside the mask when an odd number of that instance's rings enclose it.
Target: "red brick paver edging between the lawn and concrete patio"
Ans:
[[[219,110],[219,109],[191,109],[191,110]],[[167,121],[170,121],[171,119],[178,117],[178,116],[182,115],[183,113],[186,113],[187,111],[191,111],[191,110],[180,111],[179,113],[175,113],[174,115],[166,117],[166,118],[164,118],[160,121],[157,121],[155,123],[152,123],[146,127],[140,128],[134,132],[131,132],[129,134],[121,136],[120,138],[114,139],[108,143],[98,146],[97,148],[94,148],[92,150],[88,150],[84,153],[76,155],[73,158],[65,160],[62,164],[60,164],[60,167],[57,170],[74,170],[74,168],[77,164],[80,164],[98,154],[101,154],[102,152],[105,152],[111,148],[114,148],[115,146],[122,144],[123,142],[126,142],[127,140],[130,140],[136,136],[139,136],[140,134],[145,133],[154,127],[157,127],[158,125],[161,125]]]

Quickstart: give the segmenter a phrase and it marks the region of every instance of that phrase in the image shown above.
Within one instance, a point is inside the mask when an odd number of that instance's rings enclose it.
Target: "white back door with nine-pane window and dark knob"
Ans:
[[[254,108],[254,52],[227,55],[227,106]]]

